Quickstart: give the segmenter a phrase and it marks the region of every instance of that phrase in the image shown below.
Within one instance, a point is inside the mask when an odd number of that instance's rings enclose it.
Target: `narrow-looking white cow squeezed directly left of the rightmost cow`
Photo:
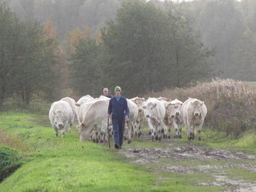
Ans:
[[[173,118],[173,126],[175,131],[175,138],[181,138],[181,131],[183,126],[183,119],[181,117],[181,107],[183,102],[178,99],[170,101],[173,104],[175,117]]]

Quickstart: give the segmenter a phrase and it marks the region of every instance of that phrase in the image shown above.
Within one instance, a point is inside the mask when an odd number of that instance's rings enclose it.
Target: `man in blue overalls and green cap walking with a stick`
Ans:
[[[124,113],[125,112],[125,113]],[[110,99],[108,117],[112,114],[113,135],[115,148],[121,148],[123,144],[124,124],[129,119],[130,110],[127,100],[121,96],[121,88],[115,88],[115,97]]]

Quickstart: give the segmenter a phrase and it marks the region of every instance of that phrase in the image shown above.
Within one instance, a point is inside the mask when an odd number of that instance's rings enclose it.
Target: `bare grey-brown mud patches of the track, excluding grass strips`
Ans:
[[[150,137],[147,132],[142,132],[142,139],[149,141]],[[158,166],[157,168],[168,170],[177,174],[193,174],[201,173],[208,174],[215,178],[213,183],[200,183],[201,186],[228,186],[230,189],[225,192],[247,192],[256,191],[256,180],[252,182],[244,180],[232,180],[225,175],[225,168],[246,169],[255,173],[256,164],[252,163],[236,163],[236,161],[248,160],[249,162],[256,161],[255,155],[247,154],[243,151],[221,150],[218,148],[207,148],[204,144],[185,142],[180,143],[179,140],[170,139],[163,140],[163,143],[169,143],[168,147],[162,148],[129,148],[119,151],[125,157],[130,159],[131,163],[138,164],[159,164],[162,159],[167,159],[167,164]],[[196,166],[181,166],[170,165],[172,162],[193,162],[193,161],[210,161],[211,165],[196,165]],[[226,164],[212,165],[214,162],[223,161]],[[213,163],[212,163],[213,162]],[[162,164],[163,162],[161,162]]]

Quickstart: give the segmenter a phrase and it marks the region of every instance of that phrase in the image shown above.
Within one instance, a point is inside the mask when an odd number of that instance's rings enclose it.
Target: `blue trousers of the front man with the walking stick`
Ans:
[[[114,140],[115,143],[119,144],[119,147],[123,144],[124,122],[124,117],[112,118]]]

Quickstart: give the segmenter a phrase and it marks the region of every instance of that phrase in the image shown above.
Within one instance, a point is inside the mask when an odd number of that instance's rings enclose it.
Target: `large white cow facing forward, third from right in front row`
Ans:
[[[167,135],[166,126],[163,123],[165,116],[164,104],[156,98],[150,98],[147,99],[146,105],[142,108],[145,109],[148,126],[150,126],[151,130],[152,141],[154,141],[154,139],[161,141],[162,128],[164,130],[164,135]]]

